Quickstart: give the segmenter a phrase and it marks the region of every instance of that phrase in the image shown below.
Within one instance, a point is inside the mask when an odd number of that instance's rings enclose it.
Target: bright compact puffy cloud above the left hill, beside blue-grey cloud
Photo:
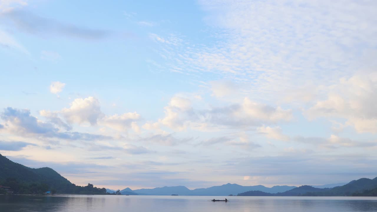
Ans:
[[[70,108],[62,109],[61,113],[69,123],[78,124],[96,125],[98,119],[103,117],[100,101],[94,97],[77,98],[70,104]]]

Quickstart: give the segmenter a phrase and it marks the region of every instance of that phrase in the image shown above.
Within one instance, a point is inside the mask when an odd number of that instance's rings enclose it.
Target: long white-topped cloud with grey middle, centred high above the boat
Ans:
[[[263,123],[278,123],[290,121],[293,118],[290,109],[271,107],[256,103],[249,98],[239,104],[210,109],[194,109],[191,102],[185,98],[173,97],[169,106],[165,107],[165,117],[159,122],[172,129],[182,131],[188,126],[201,128],[211,126],[257,126]],[[204,129],[205,130],[205,129]]]

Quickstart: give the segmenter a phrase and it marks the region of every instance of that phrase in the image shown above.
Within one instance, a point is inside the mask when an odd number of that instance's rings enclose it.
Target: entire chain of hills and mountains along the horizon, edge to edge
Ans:
[[[14,163],[0,154],[0,185],[10,186],[17,194],[43,193],[52,190],[60,194],[112,194],[115,190],[97,188],[93,184],[76,186],[49,167],[32,169]],[[341,185],[341,186],[340,186]],[[123,195],[197,195],[197,196],[376,196],[377,177],[361,178],[349,183],[326,184],[322,186],[241,186],[224,184],[190,190],[185,186],[164,186],[154,189],[126,188]]]

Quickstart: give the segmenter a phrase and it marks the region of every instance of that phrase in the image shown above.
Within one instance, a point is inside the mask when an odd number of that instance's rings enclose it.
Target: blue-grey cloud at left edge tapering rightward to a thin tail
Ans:
[[[25,137],[34,136],[87,141],[111,139],[111,137],[103,135],[60,131],[53,124],[38,120],[27,109],[5,108],[0,117],[5,121],[4,129],[6,131]]]

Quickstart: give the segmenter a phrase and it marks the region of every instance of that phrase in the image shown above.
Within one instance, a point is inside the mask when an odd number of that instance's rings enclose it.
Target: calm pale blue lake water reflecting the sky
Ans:
[[[228,198],[229,202],[211,202]],[[375,197],[198,197],[198,196],[115,196],[0,195],[1,212],[356,212],[377,211]]]

